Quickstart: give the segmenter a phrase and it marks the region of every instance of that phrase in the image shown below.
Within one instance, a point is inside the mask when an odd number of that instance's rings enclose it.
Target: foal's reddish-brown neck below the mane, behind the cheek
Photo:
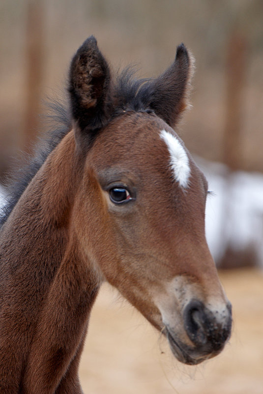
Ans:
[[[99,289],[96,271],[78,249],[71,218],[81,160],[70,132],[1,229],[1,393],[20,393],[21,385],[27,393],[43,393],[48,384],[53,393],[65,371],[71,371],[67,383],[77,373],[78,362],[70,363],[81,352]]]

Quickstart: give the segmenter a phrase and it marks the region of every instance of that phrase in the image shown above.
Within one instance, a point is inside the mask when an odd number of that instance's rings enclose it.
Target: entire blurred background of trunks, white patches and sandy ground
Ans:
[[[262,394],[263,1],[1,0],[2,186],[21,152],[47,131],[43,103],[65,98],[70,60],[90,34],[113,67],[138,64],[142,77],[162,72],[181,42],[192,51],[193,108],[176,131],[214,192],[207,241],[235,324],[222,356],[194,376],[191,368],[181,373],[169,351],[163,357],[158,334],[129,306],[109,301],[106,286],[82,364],[86,393]]]

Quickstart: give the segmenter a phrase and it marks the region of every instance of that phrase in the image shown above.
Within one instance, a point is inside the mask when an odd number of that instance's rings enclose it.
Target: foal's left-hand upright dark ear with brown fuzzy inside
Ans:
[[[110,110],[110,70],[90,36],[73,57],[69,71],[71,114],[79,132],[87,134],[102,127]]]

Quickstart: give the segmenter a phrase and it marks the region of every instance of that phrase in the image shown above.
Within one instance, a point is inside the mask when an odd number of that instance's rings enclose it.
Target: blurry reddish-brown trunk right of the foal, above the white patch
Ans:
[[[232,170],[242,164],[241,122],[245,84],[246,41],[234,30],[230,36],[226,61],[226,124],[223,140],[224,162]]]

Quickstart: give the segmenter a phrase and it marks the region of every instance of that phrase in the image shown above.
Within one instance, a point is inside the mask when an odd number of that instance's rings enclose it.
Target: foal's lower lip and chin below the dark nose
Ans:
[[[178,338],[175,338],[175,335],[172,335],[167,327],[165,334],[175,358],[183,364],[197,365],[219,353],[207,354],[206,352],[197,352],[190,346],[184,345]]]

